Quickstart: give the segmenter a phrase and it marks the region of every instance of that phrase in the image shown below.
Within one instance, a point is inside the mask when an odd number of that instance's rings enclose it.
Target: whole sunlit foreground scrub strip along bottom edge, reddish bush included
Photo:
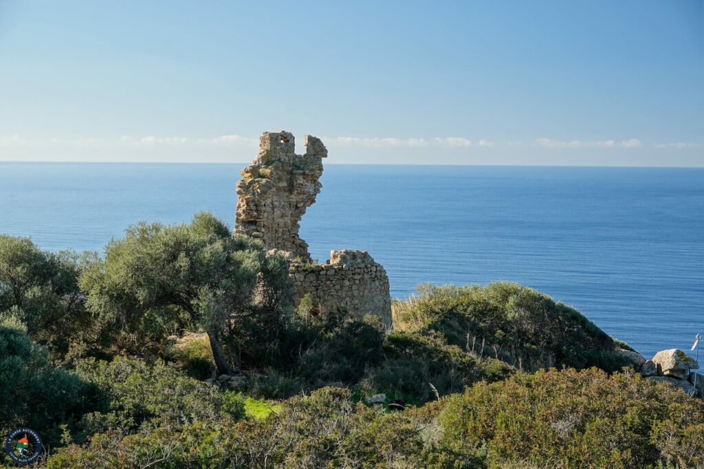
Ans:
[[[263,420],[108,431],[50,468],[657,468],[704,462],[704,404],[634,373],[514,375],[420,409],[381,412],[325,387]]]

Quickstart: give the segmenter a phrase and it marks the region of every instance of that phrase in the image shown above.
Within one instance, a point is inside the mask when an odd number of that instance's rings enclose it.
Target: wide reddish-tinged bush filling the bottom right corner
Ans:
[[[436,407],[441,446],[474,456],[486,444],[491,467],[704,463],[704,403],[633,372],[517,374],[474,385]]]

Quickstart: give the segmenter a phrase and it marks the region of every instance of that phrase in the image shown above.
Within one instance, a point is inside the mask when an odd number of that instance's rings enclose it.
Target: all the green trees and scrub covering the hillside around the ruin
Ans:
[[[394,330],[315,315],[206,213],[102,257],[0,236],[0,432],[37,430],[50,468],[704,465],[702,402],[617,347],[515,283],[422,285]]]

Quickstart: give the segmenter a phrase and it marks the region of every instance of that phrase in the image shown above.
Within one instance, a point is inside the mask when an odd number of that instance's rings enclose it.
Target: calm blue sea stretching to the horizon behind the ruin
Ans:
[[[232,225],[245,165],[0,162],[0,233],[101,250],[140,219]],[[322,184],[311,254],[368,250],[394,297],[517,281],[646,358],[704,333],[704,169],[327,165]]]

